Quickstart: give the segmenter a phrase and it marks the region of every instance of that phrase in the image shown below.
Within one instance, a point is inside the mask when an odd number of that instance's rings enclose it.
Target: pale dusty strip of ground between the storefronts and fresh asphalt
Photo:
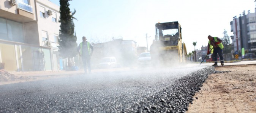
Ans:
[[[106,72],[118,72],[125,70],[133,70],[133,68],[112,68],[112,69],[93,69],[92,74],[106,73]],[[0,85],[14,84],[19,82],[38,81],[44,79],[61,78],[65,76],[77,76],[84,74],[84,70],[77,71],[35,71],[35,72],[6,72],[6,70],[0,71]]]

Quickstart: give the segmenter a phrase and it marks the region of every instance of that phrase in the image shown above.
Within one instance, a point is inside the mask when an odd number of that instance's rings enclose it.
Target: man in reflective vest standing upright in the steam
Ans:
[[[86,37],[82,37],[83,41],[78,45],[77,52],[79,56],[82,57],[83,66],[84,66],[84,73],[87,74],[87,67],[88,72],[91,73],[91,56],[93,53],[93,46],[86,41]]]

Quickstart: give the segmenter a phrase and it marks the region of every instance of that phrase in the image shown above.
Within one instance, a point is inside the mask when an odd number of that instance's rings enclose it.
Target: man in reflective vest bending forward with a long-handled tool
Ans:
[[[209,42],[207,46],[207,55],[213,53],[213,60],[214,64],[212,66],[218,66],[218,60],[217,60],[217,53],[220,56],[220,63],[221,66],[224,65],[224,58],[223,58],[223,51],[222,49],[224,48],[222,44],[222,40],[218,37],[212,37],[211,35],[208,36]],[[213,50],[212,50],[213,48]],[[212,51],[210,51],[212,50]]]

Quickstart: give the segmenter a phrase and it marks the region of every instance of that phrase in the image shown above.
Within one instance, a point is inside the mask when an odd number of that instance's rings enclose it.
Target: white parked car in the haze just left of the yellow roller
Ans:
[[[141,53],[137,59],[138,67],[145,67],[151,65],[151,55],[149,52]]]

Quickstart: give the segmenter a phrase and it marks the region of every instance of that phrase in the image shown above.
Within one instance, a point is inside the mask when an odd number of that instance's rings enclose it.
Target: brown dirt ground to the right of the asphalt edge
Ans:
[[[256,65],[218,66],[186,113],[256,113]]]

